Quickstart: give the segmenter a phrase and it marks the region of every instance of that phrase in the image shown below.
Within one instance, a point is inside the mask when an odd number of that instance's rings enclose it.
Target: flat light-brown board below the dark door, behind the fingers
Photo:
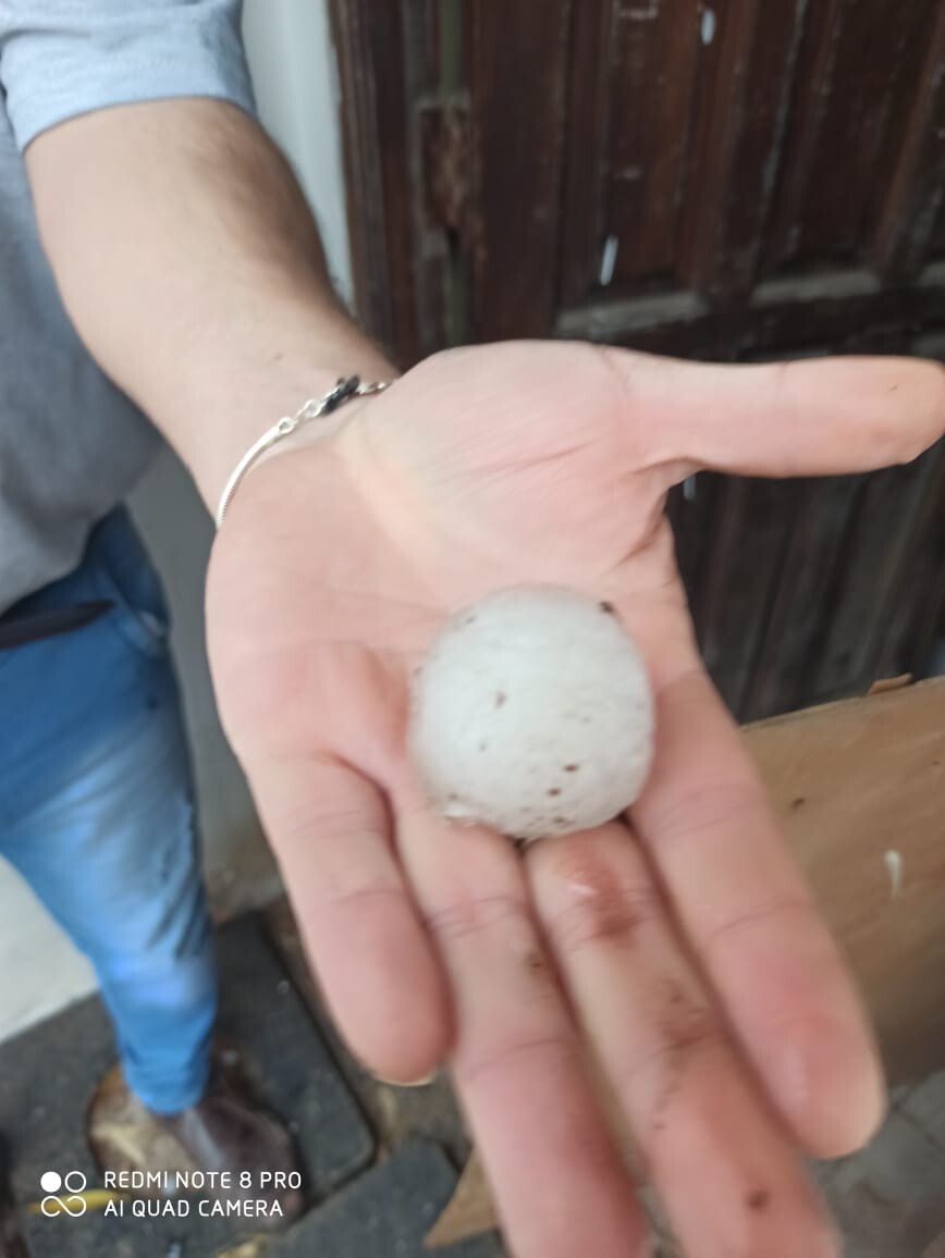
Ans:
[[[891,1081],[945,1067],[945,679],[761,721],[745,737],[863,986]],[[473,1159],[430,1243],[495,1225]]]

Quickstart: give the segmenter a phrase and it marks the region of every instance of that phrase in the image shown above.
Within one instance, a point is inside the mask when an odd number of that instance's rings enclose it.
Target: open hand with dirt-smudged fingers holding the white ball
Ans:
[[[598,1071],[690,1258],[834,1253],[795,1146],[864,1141],[880,1068],[700,662],[663,502],[706,467],[911,459],[942,433],[944,380],[906,360],[453,351],[234,499],[211,662],[312,964],[380,1076],[449,1059],[518,1258],[644,1252]],[[443,619],[532,581],[617,606],[648,663],[657,751],[625,823],[520,857],[430,811],[405,727]]]

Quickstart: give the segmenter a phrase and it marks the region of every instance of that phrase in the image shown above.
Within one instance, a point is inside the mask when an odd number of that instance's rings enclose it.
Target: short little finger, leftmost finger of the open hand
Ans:
[[[384,800],[354,770],[303,756],[250,766],[250,780],[342,1034],[383,1078],[429,1076],[448,1052],[447,989]]]

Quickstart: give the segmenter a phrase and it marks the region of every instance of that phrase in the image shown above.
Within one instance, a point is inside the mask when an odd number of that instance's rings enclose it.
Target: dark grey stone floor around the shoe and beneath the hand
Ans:
[[[293,1131],[308,1211],[279,1235],[254,1234],[252,1220],[201,1218],[200,1199],[186,1219],[137,1218],[130,1200],[123,1216],[102,1201],[82,1218],[39,1211],[47,1172],[101,1184],[87,1115],[115,1052],[93,995],[0,1045],[0,1131],[21,1258],[429,1255],[424,1237],[469,1152],[447,1079],[393,1088],[357,1066],[325,1016],[284,902],[223,927],[219,954],[221,1038],[238,1045],[240,1074],[259,1101]],[[945,1258],[945,1072],[895,1093],[868,1150],[815,1171],[846,1258]],[[505,1253],[495,1233],[438,1252]],[[668,1242],[661,1258],[677,1258]]]

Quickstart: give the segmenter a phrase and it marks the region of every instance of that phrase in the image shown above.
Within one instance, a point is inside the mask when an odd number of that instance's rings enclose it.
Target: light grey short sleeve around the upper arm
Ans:
[[[0,86],[20,148],[94,109],[213,97],[253,112],[242,0],[0,0]]]

